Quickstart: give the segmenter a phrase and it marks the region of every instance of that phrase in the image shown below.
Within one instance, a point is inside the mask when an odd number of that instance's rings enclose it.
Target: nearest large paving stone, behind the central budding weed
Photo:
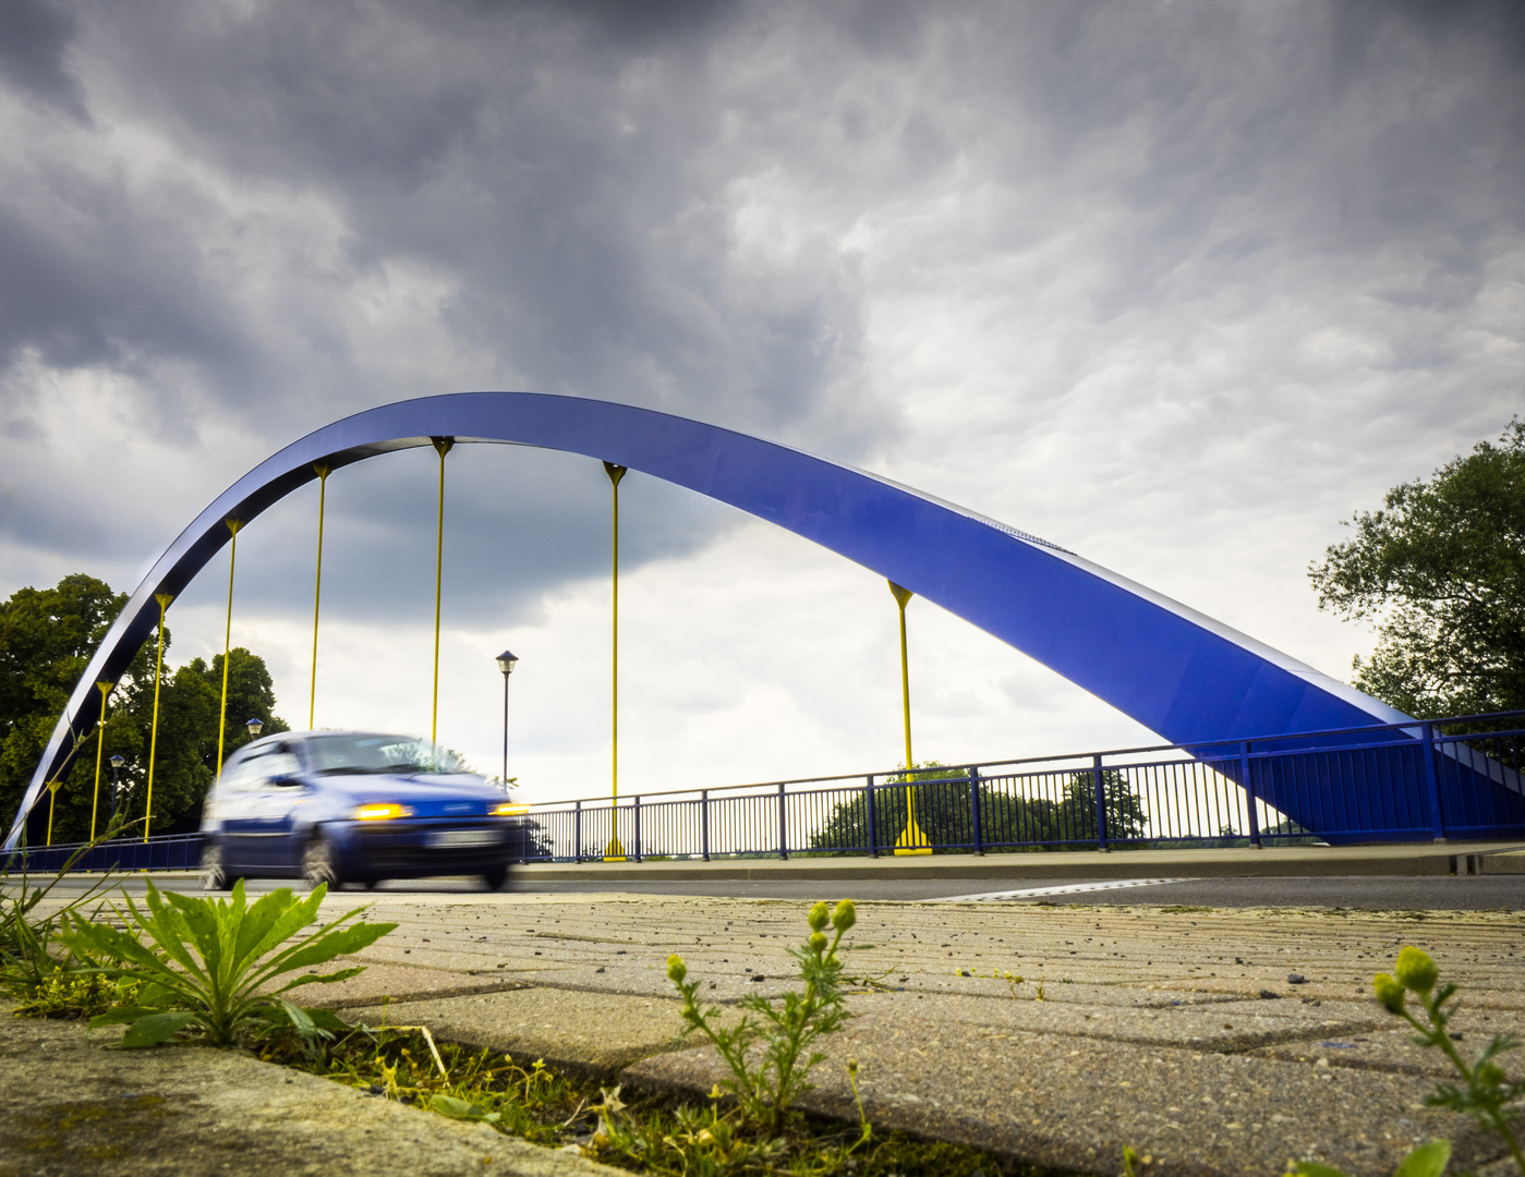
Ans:
[[[1243,1055],[1016,1032],[875,1011],[824,1044],[804,1105],[856,1118],[846,1061],[875,1125],[1081,1172],[1121,1171],[1124,1145],[1153,1174],[1279,1174],[1289,1157],[1353,1177],[1386,1177],[1415,1143],[1446,1136],[1461,1165],[1499,1148],[1470,1121],[1427,1108],[1411,1076],[1310,1067]],[[726,1078],[714,1050],[647,1058],[640,1086],[695,1095]]]

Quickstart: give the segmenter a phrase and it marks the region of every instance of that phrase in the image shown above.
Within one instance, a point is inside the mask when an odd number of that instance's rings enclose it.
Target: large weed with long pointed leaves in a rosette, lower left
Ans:
[[[122,1038],[125,1047],[152,1046],[177,1035],[230,1046],[282,1028],[311,1043],[348,1026],[332,1014],[299,1009],[281,994],[302,985],[345,980],[364,967],[323,974],[314,970],[268,986],[287,974],[357,953],[396,927],[351,924],[364,910],[357,907],[300,942],[282,947],[317,922],[326,893],[328,887],[319,886],[299,900],[290,887],[279,887],[250,906],[244,901],[242,880],[230,900],[174,892],[162,896],[149,880],[145,907],[139,909],[128,896],[127,910],[117,912],[127,930],[73,912],[58,938],[75,956],[95,962],[88,971],[139,982],[137,1005],[90,1021],[92,1026],[131,1023]]]

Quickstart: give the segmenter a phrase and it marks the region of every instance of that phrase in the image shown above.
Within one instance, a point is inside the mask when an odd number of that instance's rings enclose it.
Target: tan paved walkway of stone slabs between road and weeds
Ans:
[[[1316,1157],[1388,1174],[1432,1136],[1455,1140],[1464,1165],[1501,1156],[1470,1122],[1424,1107],[1441,1072],[1371,1002],[1369,977],[1418,944],[1462,985],[1466,1040],[1522,1034],[1522,915],[859,910],[854,1018],[824,1046],[807,1099],[819,1111],[854,1114],[851,1057],[875,1124],[1054,1168],[1118,1172],[1132,1145],[1148,1172],[1279,1174],[1287,1157]],[[378,893],[375,918],[400,928],[361,957],[374,971],[329,996],[372,1025],[407,1018],[518,1060],[703,1095],[720,1063],[677,1038],[666,954],[682,953],[715,1002],[779,994],[804,913],[796,901]],[[462,993],[471,985],[482,993]]]

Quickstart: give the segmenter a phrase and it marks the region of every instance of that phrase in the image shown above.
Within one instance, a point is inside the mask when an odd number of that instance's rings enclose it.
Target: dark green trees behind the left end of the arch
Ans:
[[[66,576],[53,588],[20,588],[0,602],[0,819],[14,819],[53,726],[84,674],[125,593],[93,576]],[[217,714],[223,691],[223,656],[207,665],[192,659],[178,669],[168,662],[172,633],[165,630],[165,675],[159,695],[159,752],[154,762],[152,832],[195,829],[201,799],[217,768]],[[104,753],[127,758],[120,779],[133,817],[143,816],[148,744],[154,706],[156,640],[134,654],[120,686],[111,694]],[[284,732],[274,715],[270,671],[258,654],[232,651],[227,680],[224,755],[249,742],[244,723],[259,717],[265,732]],[[95,793],[95,727],[76,733],[75,752],[61,776],[53,813],[53,842],[79,842],[90,834]],[[111,813],[111,771],[101,773],[98,829]],[[46,803],[46,799],[44,802]]]

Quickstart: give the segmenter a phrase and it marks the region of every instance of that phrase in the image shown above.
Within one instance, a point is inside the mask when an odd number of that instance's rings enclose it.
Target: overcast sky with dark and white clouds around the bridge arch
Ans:
[[[0,595],[131,590],[386,401],[518,389],[801,445],[1319,669],[1339,520],[1525,407],[1514,3],[0,8]],[[435,456],[329,480],[319,726],[429,727]],[[901,758],[881,579],[631,474],[622,791]],[[608,483],[450,456],[441,738],[608,782]],[[233,640],[307,726],[316,486]],[[221,649],[226,561],[171,610]],[[1151,733],[926,602],[917,758]]]

